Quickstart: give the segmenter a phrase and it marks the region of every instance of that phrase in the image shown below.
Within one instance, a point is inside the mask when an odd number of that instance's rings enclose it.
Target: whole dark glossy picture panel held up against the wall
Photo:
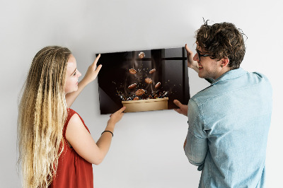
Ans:
[[[173,100],[190,99],[184,47],[104,53],[99,64],[100,114],[123,105],[125,112],[174,109]]]

